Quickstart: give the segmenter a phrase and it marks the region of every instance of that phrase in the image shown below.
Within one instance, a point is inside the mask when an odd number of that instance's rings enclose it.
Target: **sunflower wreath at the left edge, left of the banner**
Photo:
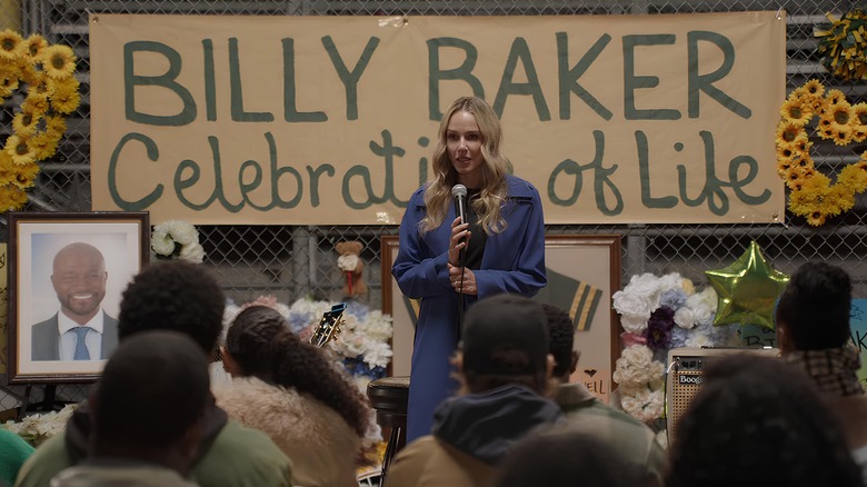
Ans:
[[[0,103],[27,91],[0,151],[0,211],[23,208],[38,162],[57,151],[67,131],[63,116],[81,102],[74,72],[76,54],[68,46],[49,44],[38,34],[23,39],[9,29],[0,32]]]

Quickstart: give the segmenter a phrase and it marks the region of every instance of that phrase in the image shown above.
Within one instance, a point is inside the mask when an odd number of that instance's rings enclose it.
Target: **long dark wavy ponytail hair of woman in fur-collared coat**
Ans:
[[[277,310],[251,306],[238,314],[226,348],[245,376],[309,394],[363,436],[369,417],[365,398],[321,350],[302,342]]]

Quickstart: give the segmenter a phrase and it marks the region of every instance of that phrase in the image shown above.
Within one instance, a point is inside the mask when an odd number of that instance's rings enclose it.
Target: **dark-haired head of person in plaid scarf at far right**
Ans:
[[[807,262],[779,297],[776,321],[780,350],[843,347],[849,340],[851,280],[837,266]]]

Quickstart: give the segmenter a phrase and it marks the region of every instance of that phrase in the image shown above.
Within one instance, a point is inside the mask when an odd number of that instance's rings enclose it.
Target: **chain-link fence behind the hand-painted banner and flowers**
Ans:
[[[256,16],[586,16],[659,14],[785,10],[787,12],[787,88],[817,78],[837,88],[853,102],[865,101],[861,85],[844,83],[828,76],[816,53],[814,27],[827,27],[826,12],[840,14],[854,1],[768,0],[0,0],[0,30],[11,28],[24,36],[40,33],[51,43],[71,46],[79,58],[82,103],[68,120],[68,131],[57,155],[41,163],[36,188],[30,191],[29,211],[89,211],[90,105],[88,13],[148,14],[256,14]],[[760,76],[760,73],[757,73]],[[0,111],[0,139],[11,131],[18,100]],[[857,160],[865,148],[841,149],[828,141],[814,146],[817,168],[827,173]],[[856,296],[867,297],[864,237],[867,226],[864,201],[823,227],[809,227],[801,218],[785,217],[784,225],[598,225],[549,226],[549,233],[616,233],[622,237],[622,279],[640,272],[678,271],[704,282],[704,271],[729,265],[756,240],[774,267],[791,274],[807,260],[823,259],[841,265],[853,275]],[[291,223],[291,222],[287,222]],[[335,244],[363,244],[365,280],[369,292],[362,299],[381,306],[379,239],[396,235],[387,227],[316,226],[203,226],[201,241],[206,266],[212,267],[236,302],[260,295],[273,295],[281,302],[310,296],[340,299],[343,276],[336,266]],[[0,237],[8,228],[0,218]],[[0,377],[0,384],[4,378]],[[32,392],[32,394],[31,394]],[[59,401],[77,401],[86,387],[67,385],[57,389]],[[0,410],[42,400],[42,390],[14,387],[0,390]]]

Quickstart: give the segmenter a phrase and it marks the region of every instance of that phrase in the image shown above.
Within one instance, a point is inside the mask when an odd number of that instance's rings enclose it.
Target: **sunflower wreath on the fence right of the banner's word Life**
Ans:
[[[791,190],[789,211],[813,226],[849,211],[855,195],[867,190],[867,151],[858,162],[843,168],[837,181],[818,172],[810,157],[810,133],[838,146],[867,140],[867,103],[849,103],[840,90],[828,90],[816,79],[794,90],[777,126],[777,173]],[[811,121],[818,118],[814,126]]]

